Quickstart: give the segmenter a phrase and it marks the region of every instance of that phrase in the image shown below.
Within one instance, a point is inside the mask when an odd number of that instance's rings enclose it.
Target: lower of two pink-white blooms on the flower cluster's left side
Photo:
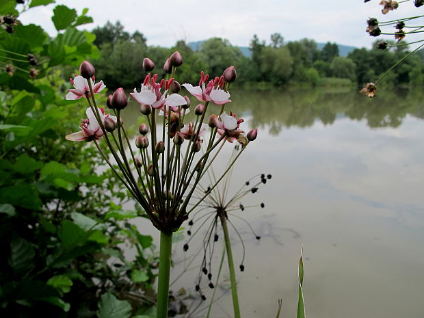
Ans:
[[[98,124],[96,116],[94,116],[91,107],[88,107],[88,109],[85,111],[85,114],[87,114],[87,118],[83,119],[81,122],[81,131],[66,135],[66,140],[70,140],[72,142],[82,142],[83,140],[86,142],[91,142],[92,140],[100,140],[101,137],[103,137],[103,131]],[[105,114],[103,108],[98,108],[98,114],[100,114],[100,118],[103,124],[105,124],[106,118],[110,118],[116,122],[116,117]]]

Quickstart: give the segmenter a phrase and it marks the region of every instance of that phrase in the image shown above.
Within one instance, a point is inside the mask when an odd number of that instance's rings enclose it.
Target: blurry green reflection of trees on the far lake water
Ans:
[[[233,91],[231,109],[252,116],[252,127],[269,127],[278,135],[283,127],[309,127],[315,120],[332,124],[336,117],[367,120],[369,127],[398,127],[408,114],[424,118],[421,90],[379,92],[377,98],[364,98],[356,91],[285,90]]]

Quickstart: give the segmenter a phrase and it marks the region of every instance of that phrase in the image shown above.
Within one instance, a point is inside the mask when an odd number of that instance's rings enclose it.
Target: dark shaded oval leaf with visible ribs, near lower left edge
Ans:
[[[31,243],[21,237],[15,237],[10,242],[9,265],[15,273],[24,273],[34,266],[32,259],[35,254]]]

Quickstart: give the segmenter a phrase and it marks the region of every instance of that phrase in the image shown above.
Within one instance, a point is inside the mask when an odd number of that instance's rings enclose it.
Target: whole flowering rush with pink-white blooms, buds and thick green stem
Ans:
[[[105,107],[99,107],[95,96],[105,88],[105,84],[103,81],[94,82],[95,70],[90,62],[81,63],[80,75],[70,79],[74,88],[66,95],[66,99],[85,98],[88,103],[87,118],[82,120],[81,130],[66,135],[66,139],[93,142],[122,185],[161,232],[158,318],[168,316],[172,233],[222,181],[257,135],[256,129],[245,135],[240,130],[243,120],[225,111],[226,104],[231,102],[230,83],[237,77],[234,66],[213,79],[201,72],[196,86],[189,83],[182,85],[200,102],[194,107],[196,120],[185,122],[185,115],[193,107],[187,96],[179,94],[181,85],[174,79],[181,64],[181,53],[174,52],[163,65],[166,78],[159,79],[157,74],[152,73],[155,68],[153,61],[144,59],[143,68],[148,75],[140,90],[135,88],[131,97],[139,104],[146,123],[140,125],[140,134],[133,144],[120,116],[122,109],[128,106],[124,90],[118,88],[109,95],[106,106],[112,114],[107,114]],[[215,114],[206,118],[209,107]],[[203,197],[195,198],[193,194],[200,180],[226,142],[239,142],[241,150],[209,191]],[[110,156],[105,154],[105,148],[109,148]]]

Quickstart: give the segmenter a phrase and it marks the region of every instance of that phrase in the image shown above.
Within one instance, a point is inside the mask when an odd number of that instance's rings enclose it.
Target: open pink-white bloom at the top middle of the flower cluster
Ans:
[[[157,75],[154,75],[150,80],[150,75],[146,76],[140,92],[137,92],[137,89],[134,88],[134,92],[131,93],[131,96],[140,104],[150,105],[155,109],[162,109],[163,106],[172,107],[172,109],[178,109],[178,106],[187,105],[185,98],[179,94],[170,94],[165,97],[172,85],[174,79],[168,79],[164,82],[163,80],[160,83],[156,83]],[[165,83],[165,92],[161,93],[161,88]]]

